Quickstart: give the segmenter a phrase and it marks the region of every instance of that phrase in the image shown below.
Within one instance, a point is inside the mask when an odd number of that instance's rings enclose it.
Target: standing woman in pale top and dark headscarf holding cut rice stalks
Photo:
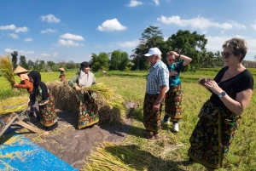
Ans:
[[[82,62],[80,71],[68,81],[68,84],[78,93],[79,129],[92,126],[99,122],[96,96],[85,89],[96,84],[96,77],[90,72],[90,67],[91,65],[89,62]]]

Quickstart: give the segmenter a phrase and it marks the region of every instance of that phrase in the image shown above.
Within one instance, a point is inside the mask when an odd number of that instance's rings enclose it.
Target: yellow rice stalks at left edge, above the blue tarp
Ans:
[[[9,98],[0,102],[0,115],[15,111],[26,111],[27,109],[27,95],[20,95],[19,97]]]

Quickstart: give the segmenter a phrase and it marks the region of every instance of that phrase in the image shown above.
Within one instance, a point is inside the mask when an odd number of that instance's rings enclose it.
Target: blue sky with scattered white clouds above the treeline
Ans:
[[[253,0],[0,0],[0,12],[0,55],[15,50],[26,60],[80,63],[116,49],[131,55],[148,26],[165,39],[178,30],[205,34],[213,53],[241,37],[245,60],[256,55]]]

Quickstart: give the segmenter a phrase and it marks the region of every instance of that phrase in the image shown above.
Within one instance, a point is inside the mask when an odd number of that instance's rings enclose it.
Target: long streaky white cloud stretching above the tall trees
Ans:
[[[157,18],[157,20],[167,25],[174,24],[182,27],[191,26],[192,28],[197,28],[201,30],[206,30],[208,27],[217,27],[224,30],[230,30],[235,28],[242,30],[246,29],[246,26],[236,23],[233,20],[230,20],[223,24],[219,24],[217,22],[213,22],[212,20],[203,18],[201,16],[198,16],[197,18],[193,18],[190,20],[182,20],[179,16],[166,17],[161,15],[161,18]]]

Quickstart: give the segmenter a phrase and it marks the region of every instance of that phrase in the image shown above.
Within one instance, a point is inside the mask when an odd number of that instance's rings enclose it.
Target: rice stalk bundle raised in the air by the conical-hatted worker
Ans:
[[[3,77],[5,77],[10,84],[15,83],[15,75],[13,71],[13,64],[10,60],[10,56],[2,56],[0,59],[0,70]]]

